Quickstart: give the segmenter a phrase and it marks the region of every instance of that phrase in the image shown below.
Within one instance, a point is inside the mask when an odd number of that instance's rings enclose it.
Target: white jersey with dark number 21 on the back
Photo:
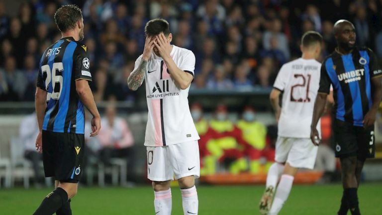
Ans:
[[[284,91],[279,120],[279,137],[310,138],[314,102],[320,82],[321,64],[302,58],[280,69],[274,87]],[[320,122],[317,130],[321,134]]]

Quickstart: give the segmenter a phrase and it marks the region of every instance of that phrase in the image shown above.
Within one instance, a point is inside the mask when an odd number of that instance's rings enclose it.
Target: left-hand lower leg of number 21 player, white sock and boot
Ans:
[[[271,165],[267,175],[267,185],[260,200],[260,214],[267,215],[272,206],[277,183],[284,171],[284,163],[275,162]]]

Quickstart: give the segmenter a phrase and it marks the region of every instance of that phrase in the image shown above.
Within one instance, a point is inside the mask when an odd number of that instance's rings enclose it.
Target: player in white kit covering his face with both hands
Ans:
[[[164,19],[145,26],[143,54],[128,77],[132,90],[145,80],[148,106],[145,145],[147,172],[154,188],[156,215],[171,215],[170,182],[178,180],[183,212],[196,215],[198,200],[194,178],[199,177],[199,136],[192,121],[188,94],[195,56],[190,50],[171,45],[172,34]]]

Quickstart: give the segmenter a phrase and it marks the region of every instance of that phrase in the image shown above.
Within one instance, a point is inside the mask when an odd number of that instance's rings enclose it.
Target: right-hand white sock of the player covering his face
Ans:
[[[184,215],[197,215],[199,202],[197,200],[196,187],[181,189]]]

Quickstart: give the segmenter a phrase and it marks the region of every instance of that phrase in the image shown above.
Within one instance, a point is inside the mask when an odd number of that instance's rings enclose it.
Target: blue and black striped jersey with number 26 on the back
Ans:
[[[44,131],[84,134],[84,105],[75,81],[92,80],[86,49],[72,37],[65,37],[42,55],[37,87],[47,91]]]

